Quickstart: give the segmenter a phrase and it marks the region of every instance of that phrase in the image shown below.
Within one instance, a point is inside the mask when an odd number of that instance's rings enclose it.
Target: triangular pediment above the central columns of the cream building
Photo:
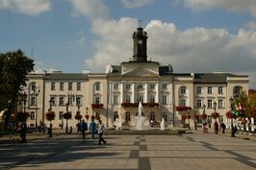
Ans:
[[[122,76],[127,76],[127,77],[159,77],[158,74],[156,74],[153,71],[150,71],[148,69],[139,67],[134,70],[131,70],[129,72],[126,72]]]

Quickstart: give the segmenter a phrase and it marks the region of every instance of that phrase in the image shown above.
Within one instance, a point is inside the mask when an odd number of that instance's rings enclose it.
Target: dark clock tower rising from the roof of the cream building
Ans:
[[[147,34],[143,28],[139,27],[137,32],[133,34],[134,39],[134,56],[133,61],[147,61],[146,55],[146,39]]]

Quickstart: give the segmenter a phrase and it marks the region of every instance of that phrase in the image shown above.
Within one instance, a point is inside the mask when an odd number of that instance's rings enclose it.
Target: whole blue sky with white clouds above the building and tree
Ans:
[[[130,60],[141,26],[148,59],[256,89],[256,0],[0,0],[0,21],[0,53],[21,49],[38,73],[104,73]]]

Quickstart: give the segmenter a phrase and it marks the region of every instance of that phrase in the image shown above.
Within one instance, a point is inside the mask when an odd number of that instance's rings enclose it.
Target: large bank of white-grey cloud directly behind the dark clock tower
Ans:
[[[85,61],[87,68],[103,71],[108,63],[129,61],[133,56],[132,35],[138,25],[138,20],[128,17],[94,21],[92,31],[99,39],[93,42],[96,52]],[[174,24],[160,20],[150,21],[145,31],[148,60],[170,63],[174,72],[224,71],[256,75],[256,31],[241,29],[237,35],[224,29],[179,31]]]

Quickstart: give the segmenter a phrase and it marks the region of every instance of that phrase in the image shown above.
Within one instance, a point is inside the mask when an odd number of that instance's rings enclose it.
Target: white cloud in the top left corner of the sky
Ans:
[[[0,10],[37,15],[51,10],[50,0],[0,0]]]

